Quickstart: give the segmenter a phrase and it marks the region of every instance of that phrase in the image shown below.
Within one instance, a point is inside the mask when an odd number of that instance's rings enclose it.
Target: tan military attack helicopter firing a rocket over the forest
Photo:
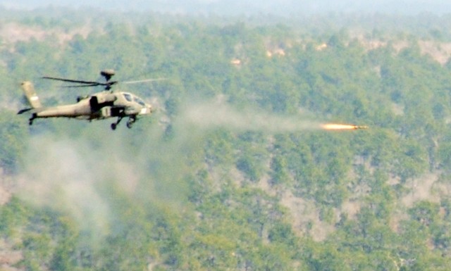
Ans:
[[[111,80],[111,77],[115,75],[114,70],[102,70],[100,75],[105,78],[105,82],[70,80],[47,76],[42,77],[47,80],[57,80],[74,84],[66,87],[104,87],[102,92],[97,92],[88,96],[78,96],[77,103],[51,107],[42,106],[32,82],[22,82],[21,87],[31,108],[22,109],[18,111],[18,114],[30,111],[32,115],[28,122],[29,125],[32,125],[33,121],[37,118],[75,118],[89,121],[117,118],[116,122],[111,123],[111,130],[116,130],[116,127],[123,118],[128,118],[127,127],[130,129],[133,123],[137,121],[138,116],[150,115],[152,113],[152,106],[145,103],[140,97],[129,92],[114,92],[111,90],[113,85],[118,83],[118,81]],[[133,84],[155,80],[161,79],[148,79],[122,83]]]

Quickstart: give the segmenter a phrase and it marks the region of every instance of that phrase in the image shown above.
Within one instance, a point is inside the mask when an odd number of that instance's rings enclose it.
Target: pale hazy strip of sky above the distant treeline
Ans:
[[[450,0],[0,0],[6,8],[37,8],[49,5],[121,10],[121,11],[163,11],[173,13],[451,13]]]

